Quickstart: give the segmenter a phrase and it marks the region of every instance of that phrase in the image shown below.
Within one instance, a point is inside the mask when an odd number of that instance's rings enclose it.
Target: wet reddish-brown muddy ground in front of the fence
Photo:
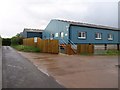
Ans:
[[[118,88],[118,56],[19,53],[67,88]]]

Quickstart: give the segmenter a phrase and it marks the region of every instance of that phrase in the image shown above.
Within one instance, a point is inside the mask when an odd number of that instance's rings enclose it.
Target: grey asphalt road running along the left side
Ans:
[[[2,47],[3,88],[63,88],[9,46]]]

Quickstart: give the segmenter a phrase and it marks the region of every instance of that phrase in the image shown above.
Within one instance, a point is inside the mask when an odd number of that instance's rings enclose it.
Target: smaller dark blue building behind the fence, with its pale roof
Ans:
[[[42,38],[42,33],[43,33],[43,30],[40,30],[40,29],[25,28],[21,33],[21,36],[24,38],[33,38],[33,37]]]

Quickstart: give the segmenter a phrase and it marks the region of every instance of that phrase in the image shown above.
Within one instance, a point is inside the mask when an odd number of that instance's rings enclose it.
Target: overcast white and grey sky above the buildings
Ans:
[[[51,19],[118,27],[119,0],[0,0],[0,35],[44,29]]]

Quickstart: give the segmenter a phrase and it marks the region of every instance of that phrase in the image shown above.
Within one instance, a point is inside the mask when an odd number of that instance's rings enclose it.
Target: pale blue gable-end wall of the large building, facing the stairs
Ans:
[[[68,34],[67,31],[68,27],[69,24],[66,22],[51,20],[48,26],[43,31],[43,39],[50,39],[51,34],[55,34],[55,33],[58,33],[59,37],[54,37],[54,39],[60,39],[60,32],[64,32],[64,40],[67,42],[68,36],[65,36],[65,34]]]

